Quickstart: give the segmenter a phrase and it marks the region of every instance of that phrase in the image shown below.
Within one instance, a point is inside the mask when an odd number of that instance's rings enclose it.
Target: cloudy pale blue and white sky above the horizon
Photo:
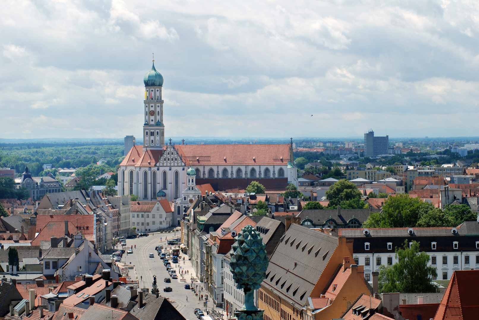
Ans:
[[[5,0],[0,138],[477,136],[479,1]]]

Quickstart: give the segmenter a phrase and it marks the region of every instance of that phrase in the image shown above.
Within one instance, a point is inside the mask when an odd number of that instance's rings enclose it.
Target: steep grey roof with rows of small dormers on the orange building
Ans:
[[[262,284],[282,299],[304,306],[337,246],[338,239],[331,235],[291,224],[270,259]]]

